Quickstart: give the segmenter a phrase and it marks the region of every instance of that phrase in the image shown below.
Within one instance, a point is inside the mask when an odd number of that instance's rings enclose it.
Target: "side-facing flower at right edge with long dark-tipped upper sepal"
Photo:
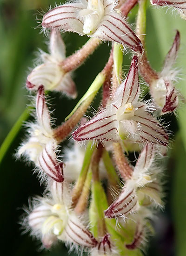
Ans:
[[[155,104],[161,110],[161,114],[171,113],[179,103],[178,92],[173,85],[177,71],[173,70],[173,64],[179,50],[179,31],[173,41],[173,45],[169,50],[162,71],[159,73],[159,78],[154,79],[150,84],[150,92]]]

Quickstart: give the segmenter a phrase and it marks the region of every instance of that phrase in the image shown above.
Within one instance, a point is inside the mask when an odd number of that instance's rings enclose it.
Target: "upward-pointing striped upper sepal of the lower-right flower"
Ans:
[[[143,173],[153,164],[155,149],[153,145],[146,145],[141,151],[138,161],[136,162],[134,173]]]

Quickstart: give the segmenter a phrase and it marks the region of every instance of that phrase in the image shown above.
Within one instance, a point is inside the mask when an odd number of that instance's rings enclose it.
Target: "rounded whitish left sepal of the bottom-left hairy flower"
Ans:
[[[41,205],[28,216],[28,224],[31,228],[40,230],[44,221],[51,215],[49,206]]]

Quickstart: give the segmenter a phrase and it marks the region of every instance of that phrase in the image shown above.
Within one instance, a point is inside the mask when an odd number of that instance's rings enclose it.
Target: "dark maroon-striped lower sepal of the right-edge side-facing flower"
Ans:
[[[166,85],[166,103],[162,108],[161,114],[171,113],[177,107],[179,103],[178,93],[171,82],[165,81]]]

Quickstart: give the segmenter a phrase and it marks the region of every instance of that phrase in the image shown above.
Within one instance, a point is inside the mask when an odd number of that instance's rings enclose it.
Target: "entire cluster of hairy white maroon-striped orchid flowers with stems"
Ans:
[[[161,116],[175,113],[180,101],[173,85],[178,76],[173,65],[179,31],[162,71],[156,72],[146,56],[146,2],[76,0],[51,8],[42,18],[49,53],[40,51],[41,63],[27,76],[35,120],[27,122],[27,139],[17,150],[19,159],[31,162],[46,186],[23,220],[42,248],[64,242],[71,250],[92,256],[144,255],[155,210],[164,207],[160,163],[170,136]],[[137,3],[136,28],[132,29],[126,16]],[[186,1],[151,3],[173,6],[185,15]],[[66,57],[61,37],[65,31],[90,39]],[[105,41],[112,50],[104,69],[66,120],[55,127],[48,91],[56,97],[59,93],[55,92],[61,92],[76,98],[72,71]],[[123,76],[126,48],[132,57]],[[149,88],[148,100],[144,84]],[[83,117],[101,86],[99,109],[93,117]],[[61,142],[69,137],[70,146],[62,154]]]

